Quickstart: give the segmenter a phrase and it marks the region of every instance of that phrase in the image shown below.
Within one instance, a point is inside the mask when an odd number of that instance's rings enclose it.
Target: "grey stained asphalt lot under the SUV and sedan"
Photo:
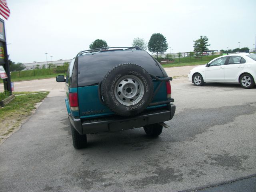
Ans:
[[[0,192],[256,191],[256,88],[174,79],[176,114],[158,138],[142,128],[92,134],[75,150],[64,84],[53,86],[0,146]]]

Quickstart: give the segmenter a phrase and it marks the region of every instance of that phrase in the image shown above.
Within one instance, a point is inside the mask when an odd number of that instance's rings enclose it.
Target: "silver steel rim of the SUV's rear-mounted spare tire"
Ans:
[[[115,85],[115,95],[118,102],[123,105],[135,105],[144,96],[142,80],[133,75],[126,75],[120,78]]]

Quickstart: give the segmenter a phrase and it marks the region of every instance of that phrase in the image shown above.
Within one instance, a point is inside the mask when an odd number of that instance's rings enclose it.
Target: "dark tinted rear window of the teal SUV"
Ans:
[[[158,64],[146,51],[97,52],[78,56],[78,86],[98,84],[111,68],[123,63],[134,63],[142,66],[148,73],[164,76]]]

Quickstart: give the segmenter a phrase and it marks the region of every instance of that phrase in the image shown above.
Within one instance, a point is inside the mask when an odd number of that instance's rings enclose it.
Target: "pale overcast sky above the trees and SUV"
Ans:
[[[193,51],[193,40],[209,39],[208,50],[256,44],[256,0],[7,0],[7,51],[13,62],[72,59],[96,39],[132,46],[134,38],[166,37],[166,52]],[[0,16],[0,18],[3,18]],[[255,46],[254,46],[255,48]],[[45,53],[48,53],[47,55]]]

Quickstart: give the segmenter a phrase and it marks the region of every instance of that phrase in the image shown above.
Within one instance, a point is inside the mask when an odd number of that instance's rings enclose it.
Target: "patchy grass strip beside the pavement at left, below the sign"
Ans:
[[[16,96],[14,100],[6,106],[0,107],[0,144],[8,138],[12,132],[18,130],[26,118],[36,109],[36,103],[41,102],[49,94],[49,92],[14,93],[24,95]]]

